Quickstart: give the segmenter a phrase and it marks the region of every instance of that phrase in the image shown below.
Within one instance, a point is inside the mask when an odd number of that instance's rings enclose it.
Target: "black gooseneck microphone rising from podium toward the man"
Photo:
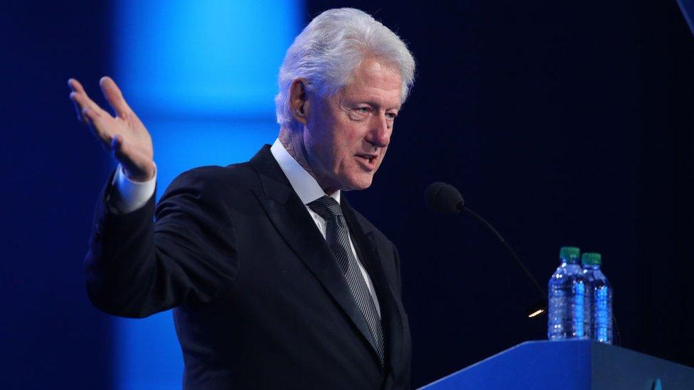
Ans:
[[[501,234],[499,234],[499,232],[497,232],[496,229],[494,229],[494,227],[491,226],[491,224],[489,224],[489,222],[487,222],[476,212],[470,210],[468,207],[465,206],[463,196],[460,195],[460,191],[457,188],[447,183],[434,182],[429,184],[429,187],[427,187],[427,189],[425,190],[424,199],[425,203],[427,204],[427,207],[429,207],[429,209],[431,210],[434,210],[435,212],[439,212],[441,214],[454,214],[457,212],[466,212],[467,214],[474,217],[474,219],[477,220],[477,222],[489,229],[489,231],[492,232],[496,236],[496,238],[501,242],[503,247],[506,248],[506,251],[508,251],[508,253],[511,254],[511,257],[513,257],[513,260],[516,261],[516,264],[518,264],[518,266],[521,267],[523,273],[525,273],[525,276],[528,276],[528,278],[530,278],[530,281],[533,282],[533,285],[535,285],[535,288],[537,288],[538,293],[540,293],[540,297],[542,297],[542,299],[539,300],[537,303],[534,303],[533,305],[528,307],[525,310],[525,314],[528,315],[528,318],[533,318],[547,311],[548,301],[547,292],[545,291],[545,289],[540,287],[540,283],[538,283],[538,281],[535,279],[535,276],[533,276],[533,274],[530,273],[528,268],[525,267],[523,261],[521,261],[521,259],[518,258],[516,251],[513,251],[513,248],[511,248],[511,245],[509,245],[508,242],[506,242],[506,239],[503,239],[503,237],[501,237]]]

